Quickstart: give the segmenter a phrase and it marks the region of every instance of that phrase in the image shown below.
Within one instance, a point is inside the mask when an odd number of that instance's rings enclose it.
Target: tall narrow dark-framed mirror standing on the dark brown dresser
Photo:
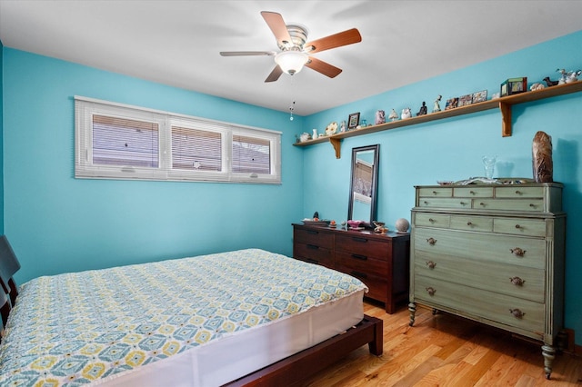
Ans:
[[[352,174],[349,185],[347,219],[372,226],[376,218],[376,191],[380,145],[352,149]]]

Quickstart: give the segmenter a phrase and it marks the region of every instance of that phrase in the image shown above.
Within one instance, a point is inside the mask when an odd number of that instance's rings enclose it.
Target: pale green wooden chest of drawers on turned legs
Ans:
[[[563,328],[562,184],[417,186],[410,325],[416,304],[543,342],[547,378]]]

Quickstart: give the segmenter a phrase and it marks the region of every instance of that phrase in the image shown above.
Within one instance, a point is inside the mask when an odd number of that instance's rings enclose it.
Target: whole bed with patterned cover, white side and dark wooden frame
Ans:
[[[381,354],[366,291],[258,249],[39,277],[10,312],[0,385],[290,385]]]

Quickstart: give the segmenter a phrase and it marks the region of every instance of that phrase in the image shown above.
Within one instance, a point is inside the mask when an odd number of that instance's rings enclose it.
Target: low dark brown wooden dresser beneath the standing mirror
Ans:
[[[385,303],[386,313],[406,302],[410,234],[345,230],[293,224],[293,257],[348,273],[369,289],[366,297]]]

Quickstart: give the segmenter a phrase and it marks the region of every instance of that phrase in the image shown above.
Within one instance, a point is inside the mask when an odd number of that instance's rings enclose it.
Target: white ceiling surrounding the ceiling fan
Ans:
[[[344,70],[336,78],[306,68],[266,84],[273,56],[218,54],[277,50],[260,11],[306,25],[307,40],[356,27],[362,42],[314,55]],[[6,47],[280,111],[296,101],[299,115],[576,32],[581,20],[580,0],[0,0]]]

